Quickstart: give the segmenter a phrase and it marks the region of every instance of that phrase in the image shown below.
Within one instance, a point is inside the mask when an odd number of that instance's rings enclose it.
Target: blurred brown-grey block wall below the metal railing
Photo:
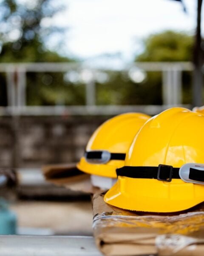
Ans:
[[[79,160],[104,117],[2,117],[0,167],[40,167]]]

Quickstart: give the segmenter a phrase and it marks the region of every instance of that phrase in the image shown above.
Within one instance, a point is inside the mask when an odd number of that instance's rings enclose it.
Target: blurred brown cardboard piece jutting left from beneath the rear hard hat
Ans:
[[[48,182],[73,191],[91,194],[100,191],[92,186],[90,175],[81,172],[76,163],[42,166],[42,173]]]

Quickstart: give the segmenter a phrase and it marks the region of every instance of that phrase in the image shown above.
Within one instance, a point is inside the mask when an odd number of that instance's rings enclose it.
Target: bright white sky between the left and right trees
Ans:
[[[66,8],[51,23],[68,26],[63,53],[90,59],[118,53],[131,60],[142,39],[166,29],[193,33],[195,0],[62,0]]]

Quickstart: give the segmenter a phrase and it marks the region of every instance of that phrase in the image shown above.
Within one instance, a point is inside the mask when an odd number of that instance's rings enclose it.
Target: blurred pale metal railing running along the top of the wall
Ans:
[[[140,111],[156,114],[171,106],[181,106],[182,102],[182,72],[193,71],[190,62],[136,62],[123,70],[112,69],[113,72],[128,72],[131,68],[144,71],[160,71],[162,73],[163,105],[95,105],[95,81],[85,81],[85,106],[26,106],[26,73],[27,72],[68,72],[69,70],[91,70],[83,63],[2,63],[0,72],[6,73],[8,107],[0,108],[0,115],[113,115],[127,111]],[[110,71],[100,68],[102,71]],[[182,105],[189,107],[190,105]]]

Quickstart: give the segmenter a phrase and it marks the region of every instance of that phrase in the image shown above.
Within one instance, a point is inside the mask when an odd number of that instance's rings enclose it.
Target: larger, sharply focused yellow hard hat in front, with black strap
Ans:
[[[113,206],[145,212],[177,212],[204,201],[204,116],[170,108],[136,134],[106,193]]]

